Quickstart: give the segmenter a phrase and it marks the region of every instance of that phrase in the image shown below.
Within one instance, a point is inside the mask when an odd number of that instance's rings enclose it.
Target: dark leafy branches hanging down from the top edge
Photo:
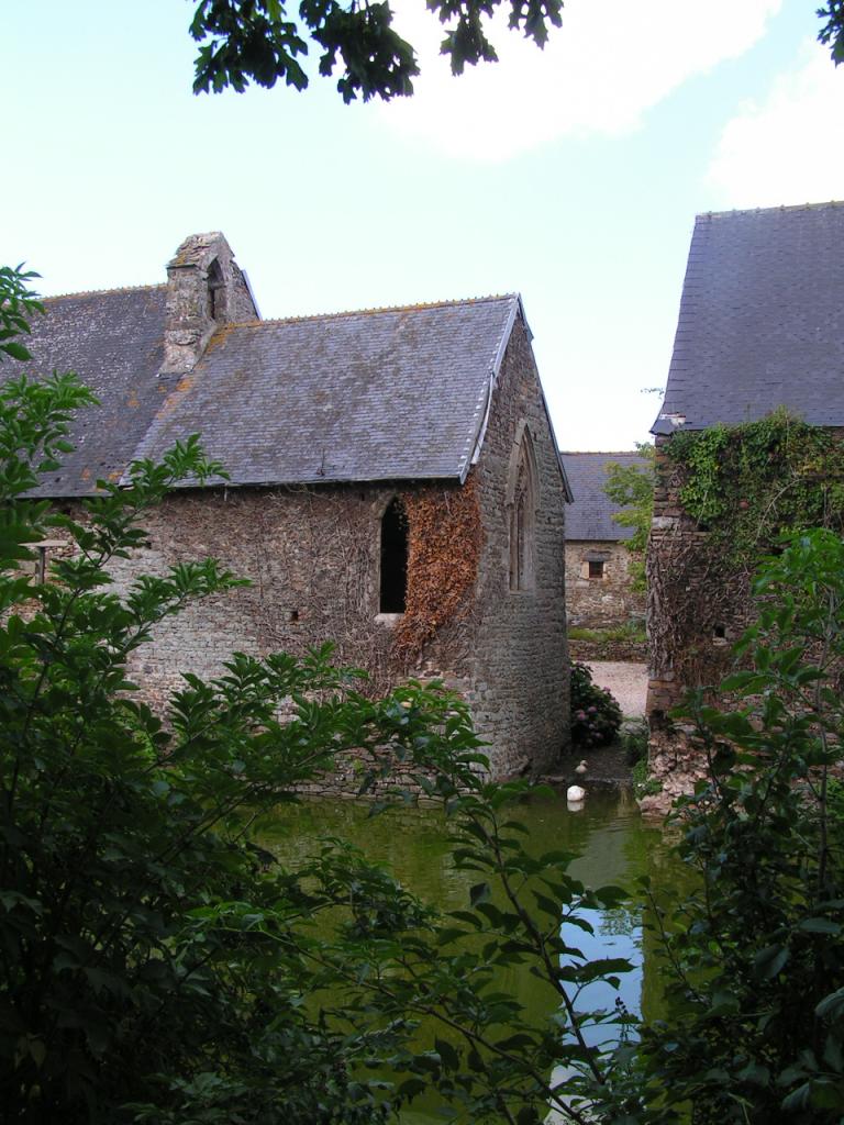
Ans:
[[[455,74],[466,63],[496,61],[487,27],[499,7],[509,14],[511,29],[540,47],[549,27],[563,22],[563,0],[428,0],[443,25],[440,50]],[[818,38],[830,45],[837,64],[844,57],[843,0],[829,0],[818,16],[826,20]],[[339,70],[338,90],[347,102],[411,94],[419,74],[415,51],[393,28],[387,0],[302,0],[294,10],[285,0],[200,0],[190,34],[200,44],[196,93],[228,86],[244,90],[250,82],[272,87],[278,80],[304,90],[308,75],[300,60],[308,54],[308,39],[320,52],[320,74]]]

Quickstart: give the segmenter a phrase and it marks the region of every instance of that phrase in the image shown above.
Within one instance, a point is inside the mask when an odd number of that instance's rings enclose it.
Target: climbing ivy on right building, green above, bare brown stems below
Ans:
[[[657,489],[698,524],[658,533],[648,554],[656,678],[713,684],[748,623],[751,578],[781,536],[844,532],[844,434],[778,410],[756,422],[680,431],[661,446]]]

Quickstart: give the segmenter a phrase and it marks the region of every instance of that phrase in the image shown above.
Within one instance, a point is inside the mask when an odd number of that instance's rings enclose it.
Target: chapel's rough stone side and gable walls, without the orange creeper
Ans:
[[[513,364],[505,367],[508,382],[521,382]],[[515,400],[508,404],[509,417],[514,418],[527,406],[526,387],[510,389]],[[396,622],[378,613],[380,518],[395,495],[410,490],[406,483],[169,496],[145,518],[149,546],[115,569],[118,587],[125,588],[133,574],[162,573],[174,562],[208,556],[251,585],[191,604],[158,627],[154,642],[141,649],[131,669],[146,700],[161,710],[182,672],[218,675],[234,650],[300,655],[334,640],[338,663],[363,667],[372,692],[413,675],[442,678],[463,694],[490,744],[494,775],[529,759],[539,770],[556,758],[568,712],[563,576],[554,566],[562,555],[562,502],[557,513],[538,522],[537,591],[510,593],[504,480],[499,479],[510,450],[502,430],[491,426],[488,448],[473,470],[479,478],[485,539],[479,598],[442,626],[411,664],[394,650]],[[488,465],[487,453],[493,454]],[[539,448],[537,453],[544,498],[557,503],[554,462]],[[440,485],[411,487],[441,494],[443,501],[448,492]],[[340,774],[324,790],[354,788],[351,775]]]

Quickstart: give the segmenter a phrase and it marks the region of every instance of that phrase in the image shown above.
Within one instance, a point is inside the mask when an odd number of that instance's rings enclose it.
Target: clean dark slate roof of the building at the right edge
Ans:
[[[842,294],[844,204],[699,215],[653,432],[776,406],[844,425]]]

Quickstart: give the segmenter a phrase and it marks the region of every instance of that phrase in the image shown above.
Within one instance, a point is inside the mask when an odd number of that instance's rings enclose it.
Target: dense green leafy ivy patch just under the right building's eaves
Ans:
[[[783,533],[844,529],[844,443],[784,410],[680,432],[666,452],[682,470],[683,507],[733,569],[755,569]]]

